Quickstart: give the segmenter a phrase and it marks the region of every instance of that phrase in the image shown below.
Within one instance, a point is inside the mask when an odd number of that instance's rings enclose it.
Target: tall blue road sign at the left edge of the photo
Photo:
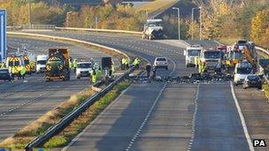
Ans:
[[[0,62],[6,58],[6,11],[0,10]]]

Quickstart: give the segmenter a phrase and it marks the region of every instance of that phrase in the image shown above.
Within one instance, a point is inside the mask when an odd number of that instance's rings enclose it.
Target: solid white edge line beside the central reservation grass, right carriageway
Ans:
[[[127,87],[127,89],[125,89],[124,91],[121,92],[121,94],[119,94],[119,96],[113,101],[111,102],[111,104],[109,104],[88,126],[86,126],[83,131],[81,133],[79,133],[75,138],[73,138],[73,140],[71,140],[71,142],[64,148],[61,149],[61,151],[65,151],[67,150],[69,147],[71,147],[73,145],[73,143],[75,143],[77,140],[79,140],[81,138],[81,136],[92,126],[96,123],[96,121],[102,117],[104,115],[104,113],[108,110],[111,109],[111,106],[113,104],[115,104],[116,102],[119,101],[119,98],[125,94],[125,92],[127,92],[127,90],[131,87],[132,85],[130,85],[129,87]]]

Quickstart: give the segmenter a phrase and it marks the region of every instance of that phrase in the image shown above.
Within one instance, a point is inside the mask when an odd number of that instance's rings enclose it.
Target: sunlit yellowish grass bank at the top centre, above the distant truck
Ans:
[[[142,4],[141,6],[138,6],[136,8],[136,11],[158,11],[163,10],[165,11],[166,8],[172,6],[173,4],[176,4],[179,2],[178,0],[156,0],[154,2],[150,2],[147,4]]]

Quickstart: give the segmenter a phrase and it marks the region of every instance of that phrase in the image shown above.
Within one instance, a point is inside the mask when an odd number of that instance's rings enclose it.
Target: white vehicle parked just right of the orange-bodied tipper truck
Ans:
[[[81,79],[81,77],[90,77],[89,73],[93,71],[92,67],[93,64],[91,62],[79,62],[76,69],[76,79]]]

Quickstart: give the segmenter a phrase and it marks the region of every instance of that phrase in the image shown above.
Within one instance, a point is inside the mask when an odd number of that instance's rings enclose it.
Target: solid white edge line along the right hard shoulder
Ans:
[[[245,137],[246,137],[246,139],[248,141],[248,144],[249,144],[249,147],[250,147],[250,151],[255,151],[254,147],[252,146],[252,141],[250,139],[250,133],[248,131],[248,127],[246,125],[245,118],[242,116],[242,110],[241,110],[241,108],[239,106],[238,100],[237,100],[236,95],[234,93],[234,85],[233,85],[233,82],[230,82],[230,86],[231,86],[231,92],[232,92],[233,98],[234,98],[234,103],[235,103],[235,106],[237,108],[239,117],[241,119],[242,129],[243,129],[243,132],[245,134]]]

